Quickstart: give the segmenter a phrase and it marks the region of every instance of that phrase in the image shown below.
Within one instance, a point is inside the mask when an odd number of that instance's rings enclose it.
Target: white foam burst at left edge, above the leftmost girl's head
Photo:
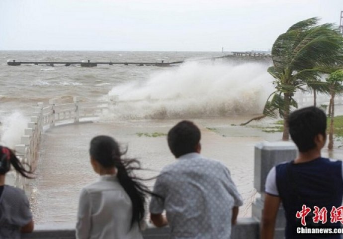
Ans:
[[[24,135],[28,119],[20,112],[14,112],[1,119],[0,144],[14,148],[20,143],[20,138]]]

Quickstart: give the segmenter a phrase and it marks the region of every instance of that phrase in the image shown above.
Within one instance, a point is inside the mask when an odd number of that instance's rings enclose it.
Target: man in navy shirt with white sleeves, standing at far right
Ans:
[[[299,155],[273,167],[267,176],[261,239],[273,238],[281,202],[286,239],[341,239],[342,161],[321,157],[326,115],[316,107],[303,108],[289,116],[288,126]]]

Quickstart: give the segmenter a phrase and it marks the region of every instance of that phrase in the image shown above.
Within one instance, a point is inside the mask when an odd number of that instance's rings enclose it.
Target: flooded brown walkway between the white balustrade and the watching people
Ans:
[[[91,169],[88,155],[89,141],[93,136],[111,135],[124,148],[128,146],[127,156],[139,159],[143,168],[150,169],[140,172],[141,176],[148,178],[156,176],[175,159],[169,151],[165,135],[139,135],[154,132],[166,134],[177,121],[90,122],[47,130],[42,135],[37,179],[32,182],[34,191],[31,201],[36,223],[75,224],[79,192],[98,177]],[[244,131],[227,126],[227,122],[223,124],[213,119],[194,122],[201,129],[202,154],[223,162],[230,169],[245,201],[239,216],[250,216],[250,204],[255,197],[254,145],[264,139],[247,136]],[[249,130],[249,134],[254,135],[254,129]],[[148,185],[153,183],[150,181]]]

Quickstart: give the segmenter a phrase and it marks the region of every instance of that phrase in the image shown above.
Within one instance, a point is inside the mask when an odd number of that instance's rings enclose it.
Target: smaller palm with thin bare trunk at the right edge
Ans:
[[[334,147],[334,119],[335,119],[335,96],[343,92],[343,70],[338,70],[330,74],[326,79],[330,89],[330,129],[329,129],[329,144],[328,148]]]

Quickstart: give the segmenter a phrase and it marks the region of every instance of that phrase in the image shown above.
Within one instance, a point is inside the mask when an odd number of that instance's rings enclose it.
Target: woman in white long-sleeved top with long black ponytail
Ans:
[[[143,239],[140,227],[151,192],[132,174],[139,161],[122,159],[125,153],[112,137],[90,141],[90,163],[100,179],[81,191],[77,239]]]

